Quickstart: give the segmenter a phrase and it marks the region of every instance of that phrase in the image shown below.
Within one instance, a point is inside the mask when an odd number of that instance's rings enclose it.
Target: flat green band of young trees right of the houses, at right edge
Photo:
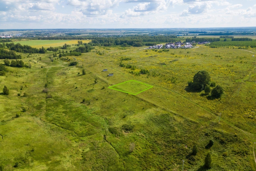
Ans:
[[[256,47],[256,41],[221,41],[221,42],[213,42],[210,45],[210,48],[218,48],[218,47],[229,47],[229,46],[236,46],[236,47]]]

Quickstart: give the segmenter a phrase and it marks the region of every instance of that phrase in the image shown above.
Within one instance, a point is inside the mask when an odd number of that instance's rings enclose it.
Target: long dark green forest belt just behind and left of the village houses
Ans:
[[[124,36],[124,37],[94,37],[92,39],[93,46],[115,46],[115,45],[123,45],[123,46],[151,46],[156,43],[162,42],[175,42],[180,40],[177,36]]]

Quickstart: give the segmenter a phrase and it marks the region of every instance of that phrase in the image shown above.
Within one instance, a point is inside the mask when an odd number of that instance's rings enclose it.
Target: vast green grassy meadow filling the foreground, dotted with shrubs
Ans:
[[[211,171],[255,170],[256,51],[198,46],[170,51],[96,46],[70,61],[51,61],[51,51],[19,53],[31,68],[8,66],[0,76],[0,92],[4,85],[10,90],[0,95],[1,166],[180,171],[184,160],[184,171],[202,171],[210,152]],[[136,69],[120,67],[122,57]],[[75,60],[78,64],[69,66]],[[136,75],[141,69],[149,73]],[[188,88],[202,70],[224,88],[221,98]],[[194,145],[198,152],[189,155]]]

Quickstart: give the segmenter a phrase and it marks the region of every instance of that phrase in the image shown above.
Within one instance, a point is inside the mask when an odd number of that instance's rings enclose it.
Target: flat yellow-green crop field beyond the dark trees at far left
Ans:
[[[83,40],[83,43],[89,43],[90,40]],[[50,46],[52,47],[58,47],[62,46],[63,44],[77,44],[77,40],[24,40],[24,41],[16,41],[13,43],[20,43],[21,45],[28,45],[33,48],[49,48]]]

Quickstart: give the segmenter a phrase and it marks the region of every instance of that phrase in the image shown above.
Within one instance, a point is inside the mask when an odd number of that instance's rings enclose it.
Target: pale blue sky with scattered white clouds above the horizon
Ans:
[[[0,29],[255,26],[256,0],[0,0]]]

